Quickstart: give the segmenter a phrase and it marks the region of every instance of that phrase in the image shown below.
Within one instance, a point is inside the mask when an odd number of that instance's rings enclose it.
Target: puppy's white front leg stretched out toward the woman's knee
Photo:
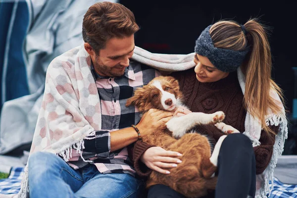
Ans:
[[[215,124],[223,121],[224,118],[225,114],[223,111],[217,111],[212,114],[192,112],[181,117],[173,117],[166,123],[166,126],[172,132],[173,137],[181,138],[187,131],[198,124]]]

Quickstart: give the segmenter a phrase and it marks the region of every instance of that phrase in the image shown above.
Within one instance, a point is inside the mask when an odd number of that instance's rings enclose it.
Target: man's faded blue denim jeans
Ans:
[[[94,164],[72,169],[48,152],[29,158],[30,198],[139,198],[144,182],[129,174],[102,174]]]

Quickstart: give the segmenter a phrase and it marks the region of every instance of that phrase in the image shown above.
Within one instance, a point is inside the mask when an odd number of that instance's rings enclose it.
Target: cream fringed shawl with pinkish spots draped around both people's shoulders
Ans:
[[[132,59],[163,71],[181,71],[195,66],[194,54],[155,54],[135,47]],[[99,95],[90,66],[91,57],[84,49],[84,45],[63,53],[49,64],[44,98],[31,153],[52,152],[68,161],[71,158],[72,148],[80,153],[84,148],[84,139],[101,129]],[[245,93],[245,77],[240,69],[238,77],[243,93]],[[271,97],[281,104],[281,100],[273,92]],[[288,133],[284,109],[278,115],[268,115],[266,124],[280,125],[280,131],[276,136],[272,159],[268,167],[263,174],[257,176],[257,182],[262,181],[258,183],[261,188],[256,192],[257,198],[264,198],[271,191],[268,181],[273,181],[273,169],[278,156],[282,154]],[[245,126],[244,134],[250,138],[253,146],[259,145],[261,126],[249,113],[246,116]],[[27,164],[18,197],[29,197],[28,192]]]

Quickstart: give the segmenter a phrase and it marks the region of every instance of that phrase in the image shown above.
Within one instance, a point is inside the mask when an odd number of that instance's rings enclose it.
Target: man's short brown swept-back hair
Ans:
[[[111,38],[124,38],[139,30],[134,14],[120,3],[98,2],[86,12],[83,20],[83,39],[96,54]]]

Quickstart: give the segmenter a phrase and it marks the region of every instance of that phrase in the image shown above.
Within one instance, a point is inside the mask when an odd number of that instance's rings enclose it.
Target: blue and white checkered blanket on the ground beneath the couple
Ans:
[[[0,194],[17,194],[23,173],[23,167],[12,167],[9,177],[0,180]],[[274,189],[269,198],[297,198],[297,185],[284,184],[275,177]]]

